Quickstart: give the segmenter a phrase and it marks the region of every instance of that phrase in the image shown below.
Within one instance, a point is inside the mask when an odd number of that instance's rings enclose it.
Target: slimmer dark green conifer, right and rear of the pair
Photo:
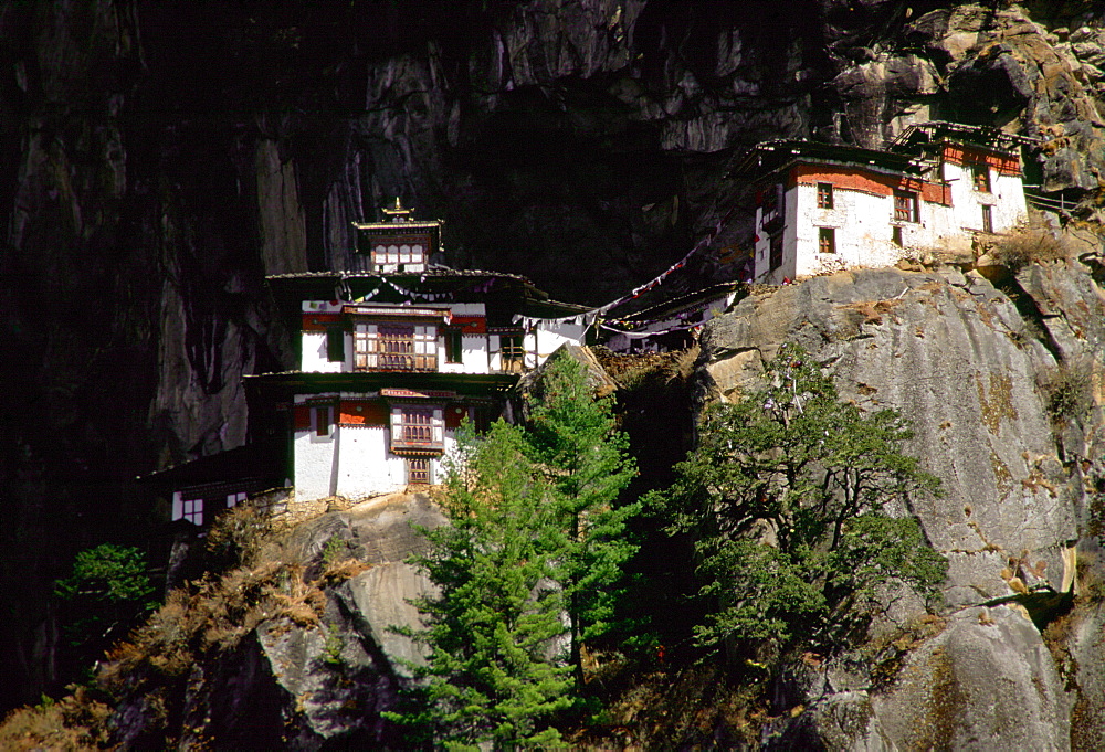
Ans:
[[[636,466],[610,398],[596,398],[583,364],[567,354],[550,359],[537,382],[525,439],[561,537],[555,579],[568,599],[571,663],[580,680],[581,646],[610,628],[623,564],[636,551],[625,527],[641,505],[618,505]]]

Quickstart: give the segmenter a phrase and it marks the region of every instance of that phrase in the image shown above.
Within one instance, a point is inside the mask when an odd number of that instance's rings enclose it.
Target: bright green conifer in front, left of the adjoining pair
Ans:
[[[562,644],[560,549],[548,489],[525,456],[522,432],[495,423],[461,442],[441,501],[445,526],[424,530],[429,551],[414,563],[439,586],[415,602],[429,647],[415,707],[391,714],[434,743],[466,749],[548,744],[551,717],[571,699]]]

